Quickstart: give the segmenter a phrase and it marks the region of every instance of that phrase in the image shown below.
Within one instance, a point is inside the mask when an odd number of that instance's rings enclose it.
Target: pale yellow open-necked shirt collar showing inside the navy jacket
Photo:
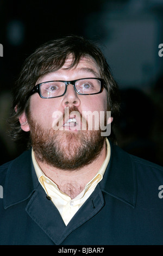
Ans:
[[[107,145],[107,153],[106,158],[99,169],[98,173],[95,177],[90,180],[84,190],[78,194],[77,197],[71,199],[71,197],[67,196],[64,192],[60,191],[57,184],[49,179],[39,167],[34,155],[34,151],[32,150],[32,160],[35,168],[35,172],[37,178],[43,189],[45,190],[46,194],[52,198],[52,202],[57,207],[62,217],[62,220],[65,222],[65,225],[70,222],[71,218],[76,214],[79,208],[85,203],[87,198],[90,197],[91,193],[95,190],[97,184],[103,179],[103,175],[105,173],[105,169],[108,166],[110,160],[110,143],[106,138],[106,145]]]

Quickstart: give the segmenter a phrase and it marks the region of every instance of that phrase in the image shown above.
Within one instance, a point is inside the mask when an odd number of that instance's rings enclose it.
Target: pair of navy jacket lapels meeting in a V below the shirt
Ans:
[[[66,226],[55,205],[51,200],[47,200],[45,191],[41,186],[38,186],[26,207],[26,211],[55,245],[60,245],[73,230],[97,214],[103,205],[103,194],[98,186],[96,192],[92,193],[91,198],[85,202]]]

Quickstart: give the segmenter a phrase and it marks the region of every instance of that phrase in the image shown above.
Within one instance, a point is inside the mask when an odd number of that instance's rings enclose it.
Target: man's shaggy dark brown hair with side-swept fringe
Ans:
[[[101,78],[105,81],[111,116],[114,117],[115,122],[120,108],[119,91],[102,51],[94,42],[84,39],[82,36],[70,35],[43,44],[25,60],[12,93],[13,112],[9,118],[9,124],[11,127],[10,136],[14,141],[27,143],[30,147],[30,133],[21,129],[18,117],[24,111],[28,117],[29,93],[38,78],[48,72],[59,70],[70,54],[73,56],[73,63],[69,68],[77,65],[80,58],[84,56],[95,59]],[[14,109],[15,106],[17,111]],[[114,138],[113,132],[111,132],[110,138]]]

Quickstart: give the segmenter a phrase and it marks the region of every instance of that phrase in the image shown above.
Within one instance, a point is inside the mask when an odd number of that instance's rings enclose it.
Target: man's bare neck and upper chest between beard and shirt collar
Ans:
[[[106,157],[106,143],[104,141],[103,148],[99,156],[90,164],[78,170],[62,170],[49,166],[45,162],[37,159],[42,172],[58,185],[58,188],[71,198],[76,197],[84,190],[85,185],[89,182],[101,168]]]

